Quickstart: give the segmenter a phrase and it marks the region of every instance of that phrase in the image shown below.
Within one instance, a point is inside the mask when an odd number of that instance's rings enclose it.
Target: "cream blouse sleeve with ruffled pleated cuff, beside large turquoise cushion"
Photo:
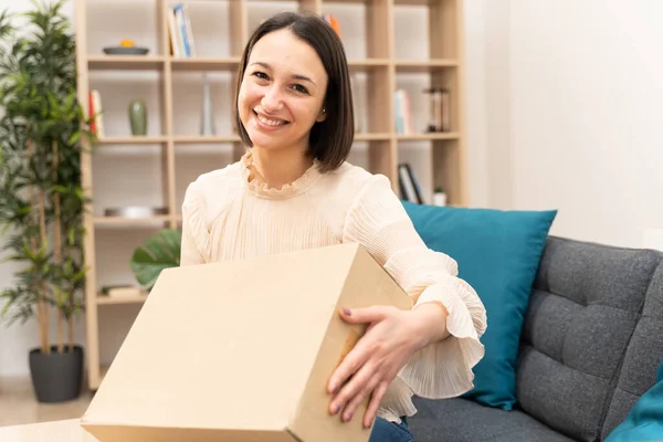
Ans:
[[[412,296],[417,308],[440,303],[450,336],[418,351],[399,372],[417,396],[459,397],[473,388],[483,358],[486,313],[475,291],[457,277],[456,262],[429,249],[382,175],[372,176],[346,215],[344,241],[361,243]]]

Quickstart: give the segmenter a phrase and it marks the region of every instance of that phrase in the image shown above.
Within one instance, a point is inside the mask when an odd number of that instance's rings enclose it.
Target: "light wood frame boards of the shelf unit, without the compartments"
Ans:
[[[113,151],[114,148],[140,149],[150,145],[160,148],[162,170],[164,201],[169,214],[144,219],[104,218],[94,214],[93,156],[82,158],[83,185],[86,196],[92,198],[90,214],[85,218],[85,264],[90,269],[86,282],[86,332],[87,332],[87,379],[88,387],[98,388],[103,379],[99,362],[98,308],[109,304],[141,303],[146,296],[136,299],[108,299],[101,297],[97,283],[97,259],[101,251],[95,250],[95,235],[99,229],[144,229],[146,227],[178,228],[181,222],[181,198],[176,193],[176,147],[187,145],[231,145],[232,160],[238,160],[244,149],[235,134],[202,137],[181,135],[175,130],[173,75],[188,72],[215,71],[236,77],[235,70],[240,55],[252,31],[248,8],[253,0],[220,0],[208,4],[225,2],[228,4],[228,39],[230,55],[220,57],[177,59],[170,55],[168,30],[168,6],[176,3],[204,3],[200,0],[150,0],[154,3],[156,21],[156,44],[149,55],[104,55],[88,52],[87,36],[95,30],[88,29],[88,8],[98,4],[98,0],[75,0],[75,28],[77,35],[78,99],[88,112],[87,96],[91,91],[91,74],[107,72],[144,71],[157,73],[160,103],[160,135],[145,137],[108,136],[96,147]],[[282,1],[282,0],[281,0]],[[280,0],[262,0],[263,3],[278,3]],[[282,1],[284,4],[292,3]],[[301,0],[299,10],[322,13],[326,7],[344,8],[362,6],[366,17],[366,52],[362,60],[349,60],[352,73],[362,73],[366,82],[366,130],[357,133],[356,141],[367,145],[368,169],[390,178],[394,191],[398,191],[399,146],[403,143],[428,143],[430,145],[430,176],[432,187],[443,186],[448,200],[453,206],[466,206],[465,169],[465,123],[464,123],[464,53],[462,0]],[[107,4],[113,4],[108,2]],[[145,3],[143,3],[145,4]],[[105,7],[106,11],[112,7]],[[429,15],[428,60],[400,59],[396,56],[396,8],[425,8]],[[286,8],[284,8],[286,9]],[[108,13],[108,12],[106,12]],[[343,29],[343,23],[341,23]],[[196,33],[196,27],[193,27]],[[401,74],[425,74],[430,76],[430,86],[442,86],[451,92],[451,131],[442,134],[397,134],[394,123],[393,94],[397,78]],[[219,104],[217,104],[219,105]],[[427,122],[418,122],[427,123]],[[112,133],[106,127],[106,133]],[[215,168],[212,167],[212,168]],[[180,183],[181,185],[181,183]],[[432,191],[432,189],[430,189]],[[138,244],[136,244],[138,245]]]

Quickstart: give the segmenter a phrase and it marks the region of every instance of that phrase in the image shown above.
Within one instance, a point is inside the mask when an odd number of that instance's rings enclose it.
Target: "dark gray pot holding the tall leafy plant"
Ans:
[[[51,347],[46,355],[40,348],[30,351],[30,375],[34,393],[40,402],[64,402],[76,399],[81,394],[83,380],[83,348],[69,346],[62,354],[57,347]]]

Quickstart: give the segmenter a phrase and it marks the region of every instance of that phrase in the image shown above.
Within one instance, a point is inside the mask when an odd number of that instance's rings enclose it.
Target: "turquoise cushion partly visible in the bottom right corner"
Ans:
[[[603,442],[663,440],[663,362],[656,385],[640,397],[635,406]]]

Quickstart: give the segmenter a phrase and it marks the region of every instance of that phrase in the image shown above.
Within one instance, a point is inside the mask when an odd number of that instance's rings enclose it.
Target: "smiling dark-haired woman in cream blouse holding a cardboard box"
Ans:
[[[203,173],[182,204],[181,265],[359,242],[413,299],[339,313],[369,325],[328,383],[329,412],[371,442],[411,441],[411,397],[456,397],[483,357],[485,309],[455,262],[429,250],[389,180],[346,161],[352,97],[340,40],[320,18],[284,12],[251,36],[236,83],[242,159]]]

